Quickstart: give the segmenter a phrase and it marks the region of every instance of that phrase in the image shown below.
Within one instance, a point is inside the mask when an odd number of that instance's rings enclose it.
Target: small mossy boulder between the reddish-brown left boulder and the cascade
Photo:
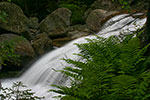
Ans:
[[[46,33],[35,36],[31,44],[38,55],[42,55],[52,48],[52,41]]]

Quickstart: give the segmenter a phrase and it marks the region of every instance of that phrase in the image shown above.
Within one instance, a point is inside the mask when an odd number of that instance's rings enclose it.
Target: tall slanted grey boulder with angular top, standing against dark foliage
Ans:
[[[46,32],[50,37],[65,34],[70,25],[71,11],[67,8],[58,8],[48,15],[39,25],[41,32]]]

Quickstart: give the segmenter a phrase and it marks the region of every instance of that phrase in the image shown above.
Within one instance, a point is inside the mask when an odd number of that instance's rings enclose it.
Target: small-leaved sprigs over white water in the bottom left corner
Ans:
[[[13,83],[11,88],[1,88],[1,100],[42,100],[44,97],[35,96],[31,89],[25,89],[22,82]]]

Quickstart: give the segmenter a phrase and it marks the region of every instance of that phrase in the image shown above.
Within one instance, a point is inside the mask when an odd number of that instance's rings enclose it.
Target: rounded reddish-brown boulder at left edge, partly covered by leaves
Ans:
[[[1,34],[0,42],[13,42],[16,54],[20,55],[21,65],[24,66],[35,56],[35,52],[28,40],[16,34]]]

